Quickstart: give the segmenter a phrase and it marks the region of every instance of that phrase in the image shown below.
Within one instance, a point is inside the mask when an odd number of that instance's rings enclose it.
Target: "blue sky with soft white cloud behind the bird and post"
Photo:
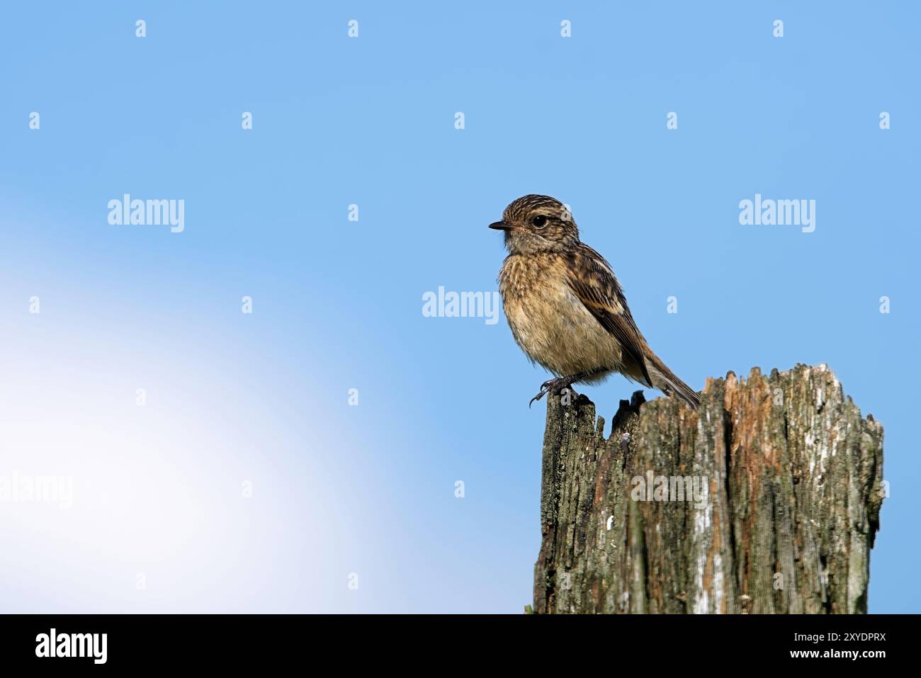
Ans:
[[[543,407],[527,403],[547,376],[504,319],[421,310],[438,286],[495,290],[486,225],[547,193],[692,386],[825,362],[882,422],[869,609],[921,611],[918,18],[5,6],[2,473],[75,482],[69,509],[0,507],[5,608],[519,612],[540,539]],[[184,200],[185,229],[109,224],[123,193]],[[815,200],[814,232],[741,226],[755,193]],[[584,388],[608,418],[632,390]]]

